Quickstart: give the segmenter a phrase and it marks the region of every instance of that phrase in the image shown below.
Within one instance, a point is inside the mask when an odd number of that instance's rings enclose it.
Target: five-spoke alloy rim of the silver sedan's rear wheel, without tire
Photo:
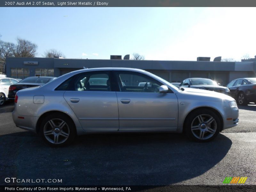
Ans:
[[[62,119],[51,119],[44,125],[44,137],[53,144],[64,143],[69,134],[69,126]]]

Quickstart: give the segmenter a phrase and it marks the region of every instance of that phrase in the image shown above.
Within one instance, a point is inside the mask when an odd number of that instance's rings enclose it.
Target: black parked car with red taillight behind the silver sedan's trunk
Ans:
[[[27,77],[26,79],[23,79],[9,87],[8,99],[14,99],[17,91],[21,89],[44,85],[52,81],[54,78],[56,77]]]

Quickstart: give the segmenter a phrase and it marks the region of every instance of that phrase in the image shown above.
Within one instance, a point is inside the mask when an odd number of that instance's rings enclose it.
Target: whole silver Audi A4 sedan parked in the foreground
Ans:
[[[101,132],[185,132],[205,142],[238,124],[238,108],[228,95],[178,88],[144,70],[91,68],[20,90],[12,118],[52,146]]]

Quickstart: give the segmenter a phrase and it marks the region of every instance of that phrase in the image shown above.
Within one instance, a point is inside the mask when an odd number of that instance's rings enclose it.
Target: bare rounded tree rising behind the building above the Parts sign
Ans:
[[[14,49],[14,57],[35,57],[37,45],[21,38],[17,38],[17,45]]]

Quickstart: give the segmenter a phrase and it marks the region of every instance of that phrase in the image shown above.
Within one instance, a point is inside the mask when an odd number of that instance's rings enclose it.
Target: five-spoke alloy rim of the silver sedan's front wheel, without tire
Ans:
[[[208,114],[201,114],[194,118],[191,123],[191,132],[200,140],[211,138],[217,130],[216,120]]]

